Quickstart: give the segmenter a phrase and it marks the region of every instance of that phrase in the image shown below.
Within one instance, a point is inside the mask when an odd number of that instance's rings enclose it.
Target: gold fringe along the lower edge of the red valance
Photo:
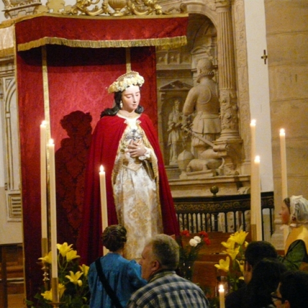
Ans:
[[[64,45],[68,47],[83,48],[111,48],[111,47],[142,47],[142,46],[162,46],[164,49],[173,49],[187,44],[186,36],[149,38],[147,40],[123,40],[123,41],[81,41],[67,40],[59,37],[42,37],[39,40],[24,44],[18,44],[18,51],[29,50],[44,45]]]

